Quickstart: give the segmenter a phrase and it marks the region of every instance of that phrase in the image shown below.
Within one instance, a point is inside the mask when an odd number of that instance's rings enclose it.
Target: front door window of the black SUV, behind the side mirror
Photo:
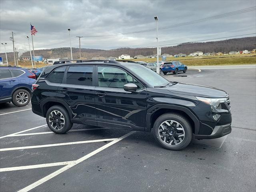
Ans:
[[[100,87],[124,88],[127,83],[134,83],[138,89],[143,85],[130,74],[116,67],[98,66],[98,82]]]

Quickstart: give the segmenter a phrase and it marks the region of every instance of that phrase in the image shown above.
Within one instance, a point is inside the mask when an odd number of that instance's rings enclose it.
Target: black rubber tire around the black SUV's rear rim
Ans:
[[[64,118],[64,125],[62,128],[59,128],[59,126],[61,126],[60,124],[60,119],[58,120],[58,123],[56,123],[56,121],[51,121],[50,122],[50,114],[54,111],[58,111],[62,114],[63,118]],[[57,117],[58,118],[58,117]],[[62,106],[59,106],[59,105],[54,105],[52,107],[50,107],[48,109],[48,111],[46,112],[46,122],[47,122],[47,125],[48,127],[50,128],[50,130],[54,133],[57,133],[57,134],[64,134],[66,132],[68,132],[72,126],[73,126],[73,123],[71,123],[70,121],[70,117],[69,117],[69,114],[68,114],[68,111],[62,107]],[[58,124],[58,125],[57,125]],[[56,128],[54,128],[53,126],[56,126]]]

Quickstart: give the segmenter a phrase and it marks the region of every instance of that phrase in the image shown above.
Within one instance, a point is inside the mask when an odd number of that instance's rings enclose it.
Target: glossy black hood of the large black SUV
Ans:
[[[203,86],[197,84],[188,84],[177,82],[173,86],[165,87],[166,90],[184,95],[198,96],[198,97],[208,97],[208,98],[225,98],[228,97],[227,93],[223,90],[213,88],[210,86]]]

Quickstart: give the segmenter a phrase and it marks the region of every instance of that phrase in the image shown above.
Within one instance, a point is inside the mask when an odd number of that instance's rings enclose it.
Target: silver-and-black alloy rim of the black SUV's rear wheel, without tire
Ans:
[[[54,128],[56,130],[60,130],[65,125],[65,118],[60,111],[54,110],[49,115],[49,122],[50,122],[52,128]]]

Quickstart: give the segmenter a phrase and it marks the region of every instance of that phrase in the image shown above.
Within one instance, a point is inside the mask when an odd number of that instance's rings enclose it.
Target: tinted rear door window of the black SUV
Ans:
[[[92,66],[71,66],[66,84],[92,86]]]

